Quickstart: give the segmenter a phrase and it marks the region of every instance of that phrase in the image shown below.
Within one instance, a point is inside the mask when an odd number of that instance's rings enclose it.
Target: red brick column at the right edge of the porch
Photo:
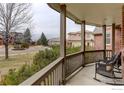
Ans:
[[[122,50],[122,77],[124,80],[124,5],[122,6],[122,29],[121,29],[121,50]]]

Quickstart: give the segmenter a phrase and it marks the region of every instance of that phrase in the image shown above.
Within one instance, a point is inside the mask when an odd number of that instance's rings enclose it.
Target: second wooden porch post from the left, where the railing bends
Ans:
[[[85,21],[82,21],[81,23],[81,51],[84,53],[83,60],[82,60],[82,66],[84,66],[84,63],[85,63]]]

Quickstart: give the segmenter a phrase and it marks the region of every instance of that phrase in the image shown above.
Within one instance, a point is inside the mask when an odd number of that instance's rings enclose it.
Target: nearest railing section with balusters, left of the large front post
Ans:
[[[62,84],[62,62],[60,57],[20,85],[61,85]]]

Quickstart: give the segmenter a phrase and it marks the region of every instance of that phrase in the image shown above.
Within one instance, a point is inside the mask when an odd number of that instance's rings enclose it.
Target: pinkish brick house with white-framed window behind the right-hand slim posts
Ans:
[[[96,27],[94,30],[94,45],[96,50],[103,49],[103,32],[102,27]],[[116,28],[115,30],[115,51],[118,51],[121,46],[121,30]],[[112,28],[106,28],[106,49],[112,49]]]

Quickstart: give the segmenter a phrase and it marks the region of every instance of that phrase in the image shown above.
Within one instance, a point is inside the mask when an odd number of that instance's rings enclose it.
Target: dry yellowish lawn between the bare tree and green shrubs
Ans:
[[[0,74],[5,75],[9,69],[18,69],[23,64],[31,64],[35,54],[36,52],[18,54],[10,56],[7,60],[5,60],[4,57],[0,57]]]

